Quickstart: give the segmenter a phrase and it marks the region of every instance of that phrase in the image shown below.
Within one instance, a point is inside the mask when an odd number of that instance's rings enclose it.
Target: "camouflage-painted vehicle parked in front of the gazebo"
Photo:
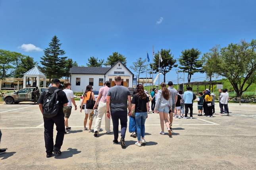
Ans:
[[[6,93],[3,95],[3,101],[6,102],[6,104],[17,104],[19,102],[37,102],[37,99],[39,98],[40,94],[45,91],[46,87],[39,88],[39,91],[37,91],[36,87],[28,87],[25,89],[21,89],[19,91],[14,91],[12,93]]]

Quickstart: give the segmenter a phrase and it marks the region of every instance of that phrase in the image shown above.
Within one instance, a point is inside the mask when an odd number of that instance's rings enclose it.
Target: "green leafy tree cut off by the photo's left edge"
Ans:
[[[4,49],[0,49],[0,76],[1,79],[9,77],[11,74],[8,74],[13,68],[12,66],[13,57],[12,52]]]

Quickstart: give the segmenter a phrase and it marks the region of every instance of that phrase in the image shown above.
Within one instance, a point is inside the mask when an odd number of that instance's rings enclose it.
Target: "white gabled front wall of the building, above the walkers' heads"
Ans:
[[[125,72],[125,74],[114,74],[114,72]],[[109,80],[109,78],[112,78],[114,81],[113,76],[121,76],[123,81],[126,81],[126,79],[129,79],[129,87],[133,87],[133,74],[131,74],[131,72],[127,68],[125,68],[125,66],[123,66],[121,62],[118,62],[117,64],[115,64],[115,66],[106,73],[106,80]]]

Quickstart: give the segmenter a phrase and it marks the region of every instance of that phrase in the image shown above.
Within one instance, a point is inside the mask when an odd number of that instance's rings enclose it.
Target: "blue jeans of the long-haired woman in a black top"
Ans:
[[[145,136],[145,121],[146,121],[147,115],[148,115],[147,112],[135,113],[138,140],[141,140],[141,137],[144,138]]]

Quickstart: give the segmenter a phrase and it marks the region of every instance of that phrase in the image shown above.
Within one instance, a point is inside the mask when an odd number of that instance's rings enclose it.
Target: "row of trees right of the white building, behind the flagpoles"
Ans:
[[[159,65],[159,54],[161,54],[162,62]],[[231,43],[227,47],[214,46],[209,52],[204,53],[200,58],[201,52],[198,49],[191,48],[181,51],[179,56],[179,64],[174,59],[170,49],[161,49],[153,59],[153,73],[162,73],[164,82],[166,74],[172,68],[178,67],[179,72],[187,73],[187,81],[190,83],[194,73],[206,73],[206,78],[212,81],[213,77],[226,77],[233,86],[237,96],[241,96],[244,91],[256,83],[256,40],[239,43]],[[133,62],[130,67],[139,77],[140,74],[146,72],[146,59],[141,57]],[[149,72],[152,74],[152,71]]]

